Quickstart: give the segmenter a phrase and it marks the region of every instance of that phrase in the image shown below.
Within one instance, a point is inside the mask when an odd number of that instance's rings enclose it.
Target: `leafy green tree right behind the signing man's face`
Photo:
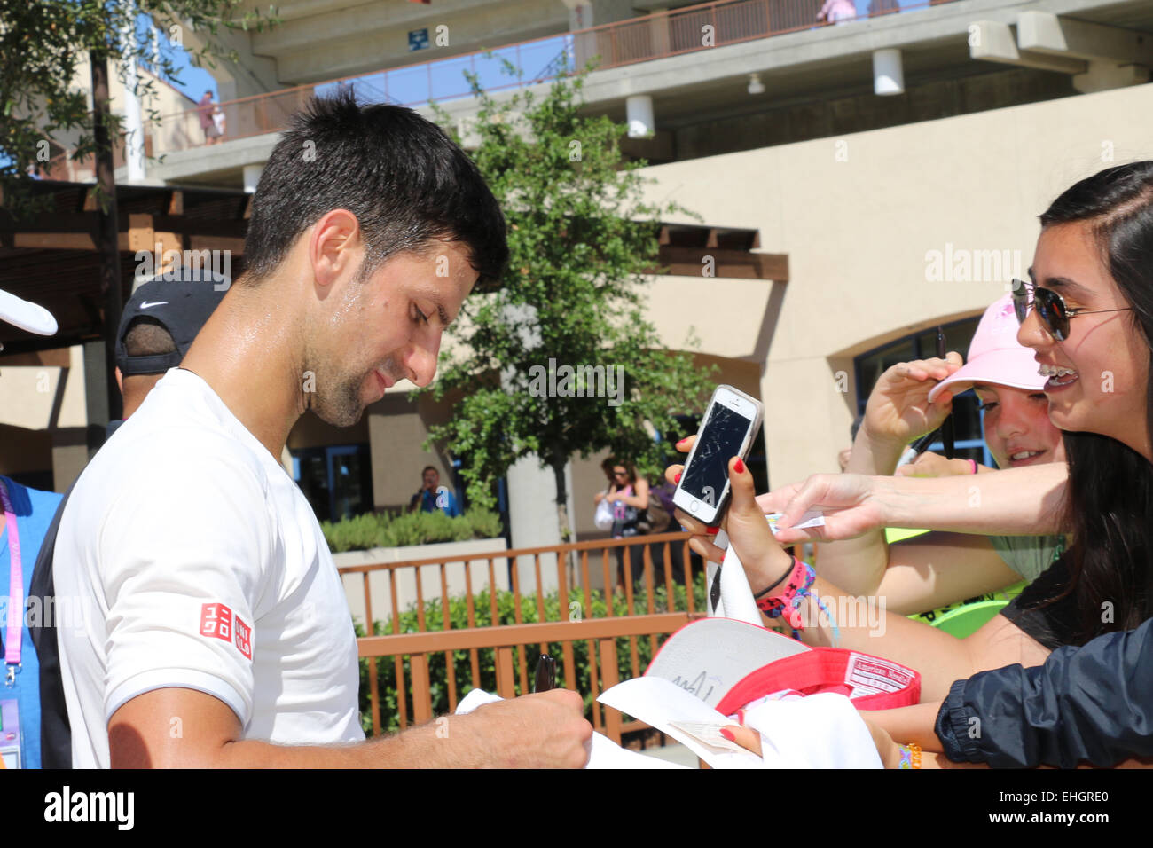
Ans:
[[[443,357],[430,389],[438,399],[461,392],[430,442],[462,460],[469,498],[491,504],[492,480],[536,456],[553,472],[564,540],[568,460],[609,448],[639,473],[657,473],[669,445],[655,431],[676,433],[675,415],[698,412],[711,391],[710,374],[689,353],[663,348],[643,314],[657,222],[696,216],[645,198],[646,163],[620,150],[627,128],[581,113],[586,75],[502,102],[470,80],[480,102],[473,157],[504,209],[511,257],[495,291],[466,300],[453,330],[460,353]]]

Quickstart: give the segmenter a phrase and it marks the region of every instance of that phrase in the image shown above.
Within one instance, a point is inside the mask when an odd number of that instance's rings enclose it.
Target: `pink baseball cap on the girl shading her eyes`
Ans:
[[[973,383],[993,383],[1013,389],[1040,391],[1048,377],[1037,373],[1033,351],[1017,342],[1017,314],[1012,295],[1007,294],[985,310],[969,345],[969,361],[942,380],[929,392],[929,402],[947,387],[954,395],[973,388]]]

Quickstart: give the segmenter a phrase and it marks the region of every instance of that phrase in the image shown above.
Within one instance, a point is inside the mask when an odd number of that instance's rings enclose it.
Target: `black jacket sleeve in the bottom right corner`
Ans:
[[[1043,666],[957,681],[936,734],[956,763],[1114,766],[1153,757],[1153,618],[1062,647]]]

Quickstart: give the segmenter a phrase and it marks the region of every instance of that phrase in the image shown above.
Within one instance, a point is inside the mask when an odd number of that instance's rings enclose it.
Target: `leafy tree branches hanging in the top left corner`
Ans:
[[[217,59],[236,59],[235,51],[226,46],[227,30],[261,30],[274,23],[272,7],[265,16],[246,6],[250,3],[244,0],[0,3],[0,187],[5,207],[14,212],[32,210],[28,171],[39,167],[51,177],[48,141],[59,143],[62,134],[76,133],[70,145],[74,159],[103,152],[88,104],[88,80],[75,80],[85,55],[101,68],[105,61],[113,61],[121,81],[129,63],[143,63],[157,76],[179,78],[178,50],[186,50],[195,65],[211,67]],[[153,43],[151,33],[136,25],[138,15],[149,15],[164,38]],[[156,91],[155,80],[137,77],[138,98]],[[101,105],[97,104],[98,113]],[[146,120],[157,118],[152,112],[146,115]],[[110,136],[119,135],[119,117],[105,118],[104,125]]]

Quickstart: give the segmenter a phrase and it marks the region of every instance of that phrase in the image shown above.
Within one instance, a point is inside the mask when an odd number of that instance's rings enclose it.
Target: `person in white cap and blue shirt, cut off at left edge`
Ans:
[[[52,336],[56,321],[42,306],[0,291],[0,321],[38,336]],[[0,345],[2,350],[2,345]],[[60,495],[0,476],[0,752],[5,768],[40,767],[40,662],[29,631],[32,564],[40,551]],[[25,615],[25,609],[29,615]],[[37,608],[37,618],[43,609]]]

